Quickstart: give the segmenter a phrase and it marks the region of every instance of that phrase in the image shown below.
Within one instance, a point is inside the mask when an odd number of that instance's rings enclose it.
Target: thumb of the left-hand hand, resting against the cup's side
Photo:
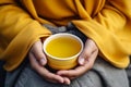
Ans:
[[[32,52],[40,65],[45,65],[47,63],[46,55],[43,52],[43,47],[40,41],[36,41],[34,44]]]

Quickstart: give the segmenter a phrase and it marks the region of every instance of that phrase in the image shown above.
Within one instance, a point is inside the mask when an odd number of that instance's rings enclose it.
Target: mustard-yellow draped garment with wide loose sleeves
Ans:
[[[16,69],[32,45],[50,35],[40,24],[72,22],[92,38],[99,55],[127,67],[131,55],[131,0],[0,0],[0,59]]]

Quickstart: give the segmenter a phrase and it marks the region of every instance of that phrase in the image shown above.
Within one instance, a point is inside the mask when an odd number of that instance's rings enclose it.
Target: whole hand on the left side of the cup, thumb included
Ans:
[[[70,79],[62,77],[55,73],[49,72],[44,65],[46,65],[46,55],[43,52],[41,41],[36,41],[28,52],[31,66],[45,79],[52,83],[70,84]]]

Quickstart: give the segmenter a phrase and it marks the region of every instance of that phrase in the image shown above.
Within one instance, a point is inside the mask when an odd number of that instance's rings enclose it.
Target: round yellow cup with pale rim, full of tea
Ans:
[[[48,37],[43,47],[48,65],[51,69],[69,70],[78,64],[78,58],[83,50],[83,42],[75,35],[59,33]]]

